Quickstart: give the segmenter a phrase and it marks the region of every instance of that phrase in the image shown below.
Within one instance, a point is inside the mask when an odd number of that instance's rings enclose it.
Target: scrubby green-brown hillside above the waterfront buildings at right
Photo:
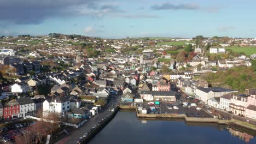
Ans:
[[[201,76],[213,87],[224,87],[244,92],[246,88],[256,88],[256,74],[251,67],[238,66],[227,71],[208,73]]]

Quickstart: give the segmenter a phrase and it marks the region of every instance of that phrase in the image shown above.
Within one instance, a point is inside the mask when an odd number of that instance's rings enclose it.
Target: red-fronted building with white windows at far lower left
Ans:
[[[3,117],[4,119],[18,118],[20,115],[20,105],[16,100],[11,100],[4,105]]]

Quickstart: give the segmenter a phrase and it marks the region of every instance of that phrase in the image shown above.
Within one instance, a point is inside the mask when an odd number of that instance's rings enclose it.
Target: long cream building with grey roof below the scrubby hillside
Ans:
[[[207,103],[208,99],[221,97],[224,94],[236,93],[238,91],[232,89],[226,89],[222,87],[197,87],[195,91],[195,97]]]

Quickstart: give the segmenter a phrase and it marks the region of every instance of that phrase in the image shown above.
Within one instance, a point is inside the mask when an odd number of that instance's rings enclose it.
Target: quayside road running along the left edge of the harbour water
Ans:
[[[104,117],[107,117],[112,114],[109,109],[112,109],[113,106],[117,106],[117,102],[120,100],[121,95],[117,95],[117,98],[114,99],[113,95],[109,96],[109,102],[107,105],[101,109],[101,111],[98,113],[98,115],[88,119],[88,122],[86,122],[82,127],[72,131],[68,136],[66,136],[61,141],[56,142],[56,144],[64,144],[64,143],[77,143],[79,140],[79,137],[83,137],[83,135],[89,131],[94,125],[97,125],[98,122],[101,121]]]

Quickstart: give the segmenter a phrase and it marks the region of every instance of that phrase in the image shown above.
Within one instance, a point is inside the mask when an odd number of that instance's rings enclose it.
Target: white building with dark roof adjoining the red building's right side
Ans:
[[[20,105],[20,117],[30,116],[34,114],[35,104],[30,97],[22,97],[16,99]]]

